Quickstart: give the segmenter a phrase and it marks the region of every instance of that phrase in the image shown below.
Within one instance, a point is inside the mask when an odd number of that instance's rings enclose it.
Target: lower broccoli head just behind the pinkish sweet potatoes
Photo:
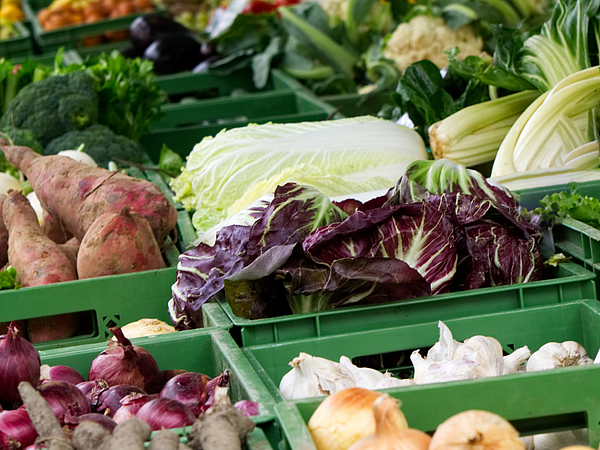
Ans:
[[[62,150],[76,150],[81,144],[84,145],[83,151],[94,158],[98,166],[104,168],[108,168],[109,161],[140,163],[144,157],[139,143],[119,136],[110,128],[99,124],[57,137],[44,148],[44,154],[56,155]]]

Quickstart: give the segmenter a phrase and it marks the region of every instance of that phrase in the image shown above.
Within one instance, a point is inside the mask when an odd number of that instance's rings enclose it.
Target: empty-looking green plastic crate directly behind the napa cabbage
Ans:
[[[240,97],[216,98],[189,104],[169,104],[161,121],[140,139],[153,161],[163,144],[185,157],[206,136],[226,128],[267,122],[325,120],[335,109],[302,91],[261,92]]]

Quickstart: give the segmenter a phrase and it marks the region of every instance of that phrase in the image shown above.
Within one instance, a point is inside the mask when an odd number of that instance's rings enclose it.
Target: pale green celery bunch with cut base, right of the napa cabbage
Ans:
[[[433,156],[465,166],[493,161],[513,123],[539,95],[517,92],[463,108],[433,124],[429,128]]]

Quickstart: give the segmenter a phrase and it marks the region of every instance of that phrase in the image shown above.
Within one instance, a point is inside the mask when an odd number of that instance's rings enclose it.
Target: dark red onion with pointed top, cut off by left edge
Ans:
[[[8,333],[0,336],[0,403],[6,409],[21,402],[17,390],[21,381],[28,381],[33,387],[40,383],[40,365],[38,351],[11,322]]]

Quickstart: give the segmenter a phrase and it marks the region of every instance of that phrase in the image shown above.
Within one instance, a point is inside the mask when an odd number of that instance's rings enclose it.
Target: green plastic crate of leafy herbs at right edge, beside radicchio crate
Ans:
[[[600,198],[600,182],[578,183],[580,194]],[[528,189],[516,192],[515,196],[528,209],[540,206],[546,195],[569,191],[568,185]],[[552,228],[552,241],[557,251],[571,256],[574,261],[592,271],[600,281],[600,230],[571,218],[564,219]],[[596,283],[600,295],[600,283]]]

